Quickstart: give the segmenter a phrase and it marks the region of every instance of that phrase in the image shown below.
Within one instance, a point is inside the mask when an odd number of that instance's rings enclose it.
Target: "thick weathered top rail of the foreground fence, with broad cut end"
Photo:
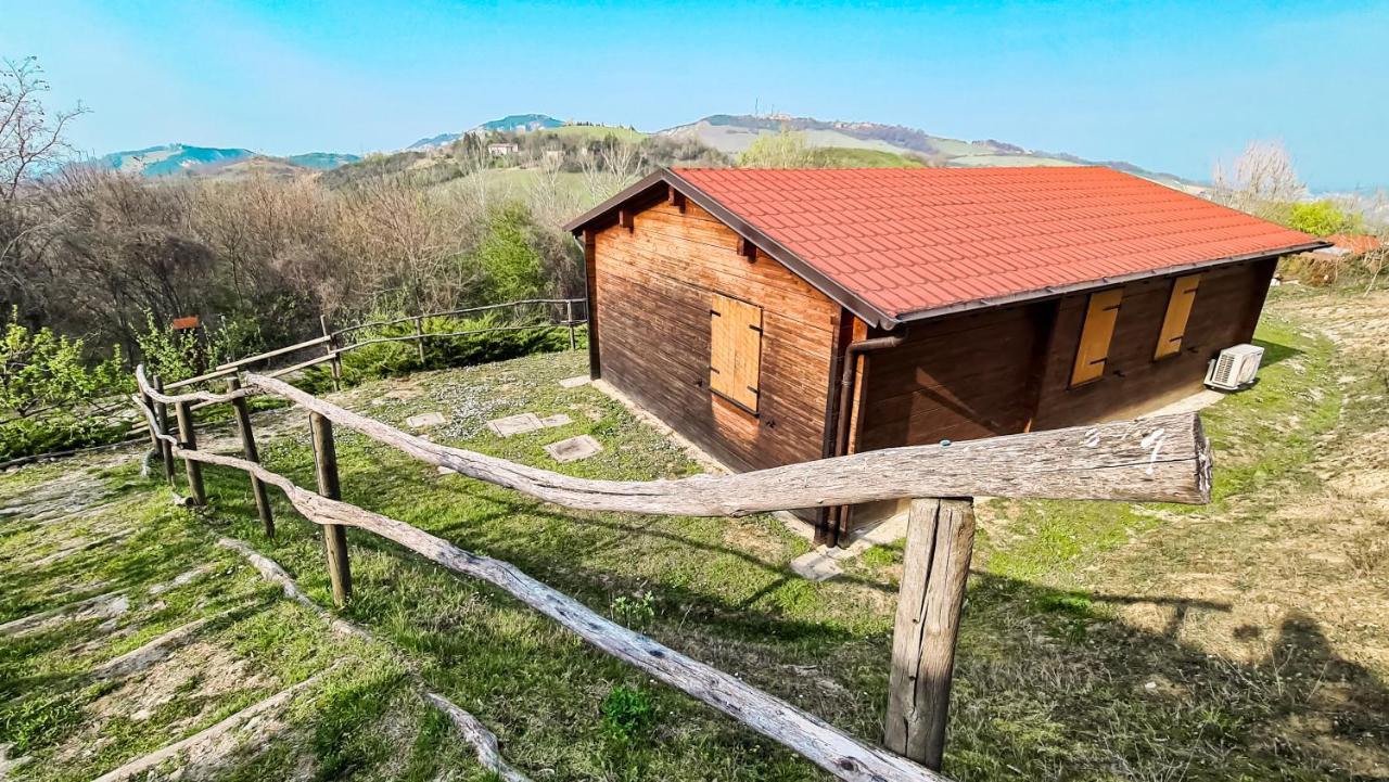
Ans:
[[[1210,443],[1193,413],[883,449],[736,475],[593,481],[432,443],[263,375],[249,374],[246,383],[428,464],[579,510],[746,515],[901,497],[1210,500]]]

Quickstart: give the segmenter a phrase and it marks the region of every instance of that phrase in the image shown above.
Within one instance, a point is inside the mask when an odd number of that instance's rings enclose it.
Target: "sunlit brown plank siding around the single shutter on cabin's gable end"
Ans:
[[[836,304],[690,203],[599,232],[593,256],[606,381],[729,467],[821,457]],[[711,294],[763,308],[757,417],[710,392]]]

